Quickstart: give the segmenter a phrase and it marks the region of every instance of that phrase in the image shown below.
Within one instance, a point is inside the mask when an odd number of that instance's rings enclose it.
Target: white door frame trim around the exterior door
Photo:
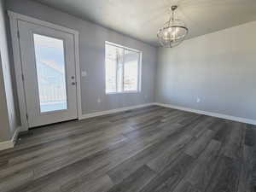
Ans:
[[[75,45],[75,68],[76,68],[76,82],[77,82],[77,105],[78,105],[78,119],[82,119],[82,105],[81,105],[81,84],[80,84],[80,64],[79,64],[79,32],[69,29],[64,26],[58,26],[53,23],[34,19],[26,15],[20,15],[12,11],[8,11],[11,37],[12,37],[12,46],[15,62],[15,79],[17,85],[18,99],[19,99],[19,108],[20,108],[20,120],[21,120],[21,130],[28,130],[28,121],[26,116],[26,97],[24,91],[23,83],[23,72],[21,67],[21,56],[20,56],[20,34],[18,29],[18,20],[25,20],[39,26],[46,26],[59,30],[62,32],[67,32],[73,34],[74,36],[74,45]]]

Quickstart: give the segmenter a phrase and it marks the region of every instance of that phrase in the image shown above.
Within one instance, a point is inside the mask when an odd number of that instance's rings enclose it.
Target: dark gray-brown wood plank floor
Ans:
[[[157,106],[49,125],[0,152],[1,192],[253,192],[256,129]]]

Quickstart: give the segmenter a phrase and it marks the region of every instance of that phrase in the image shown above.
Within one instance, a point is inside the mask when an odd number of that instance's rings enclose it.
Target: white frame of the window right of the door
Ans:
[[[124,90],[124,71],[123,71],[123,84],[122,84],[122,91],[117,91],[117,88],[116,88],[116,91],[115,92],[107,92],[106,90],[106,77],[105,77],[105,94],[106,95],[113,95],[113,94],[124,94],[124,93],[139,93],[142,91],[142,69],[143,69],[143,51],[141,50],[137,50],[137,49],[132,49],[132,48],[129,48],[129,47],[125,47],[123,45],[120,45],[120,44],[114,44],[112,42],[109,42],[109,41],[105,41],[105,75],[106,75],[106,45],[112,45],[112,46],[115,46],[117,48],[121,48],[123,49],[124,51],[125,50],[130,50],[130,51],[133,51],[133,52],[137,52],[139,54],[139,61],[138,61],[138,77],[137,77],[137,90]],[[123,70],[124,70],[124,60],[123,60]],[[116,83],[116,86],[117,86],[117,83]]]

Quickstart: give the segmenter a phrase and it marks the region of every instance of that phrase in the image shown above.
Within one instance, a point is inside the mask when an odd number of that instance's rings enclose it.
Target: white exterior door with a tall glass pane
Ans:
[[[18,21],[29,127],[78,118],[74,36]]]

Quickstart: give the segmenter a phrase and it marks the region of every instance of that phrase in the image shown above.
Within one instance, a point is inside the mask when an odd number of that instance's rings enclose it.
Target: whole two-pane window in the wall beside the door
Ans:
[[[106,42],[106,93],[140,91],[142,52]]]

